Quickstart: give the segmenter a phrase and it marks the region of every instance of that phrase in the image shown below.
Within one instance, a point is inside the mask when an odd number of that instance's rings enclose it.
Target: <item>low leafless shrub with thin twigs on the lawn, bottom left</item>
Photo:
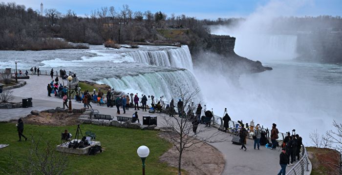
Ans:
[[[43,138],[41,134],[37,139],[33,136],[32,143],[26,158],[22,161],[14,159],[18,173],[25,175],[62,175],[69,161],[68,153],[56,151],[56,146]],[[43,148],[42,144],[44,145]]]

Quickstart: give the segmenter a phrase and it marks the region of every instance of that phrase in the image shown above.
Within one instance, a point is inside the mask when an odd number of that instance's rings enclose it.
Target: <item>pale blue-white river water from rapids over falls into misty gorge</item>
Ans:
[[[236,47],[244,56],[238,40]],[[249,123],[254,119],[265,128],[277,123],[282,132],[296,129],[306,144],[313,130],[330,129],[334,119],[342,122],[342,66],[337,64],[265,59],[263,64],[272,71],[241,75],[231,81],[223,73],[192,67],[187,46],[116,50],[91,45],[85,50],[0,51],[0,69],[14,69],[15,60],[20,70],[29,71],[31,66],[39,66],[43,72],[51,68],[72,70],[80,79],[156,97],[174,97],[175,84],[198,87],[201,93],[197,99],[206,101],[215,115],[222,116],[227,108],[235,121]]]

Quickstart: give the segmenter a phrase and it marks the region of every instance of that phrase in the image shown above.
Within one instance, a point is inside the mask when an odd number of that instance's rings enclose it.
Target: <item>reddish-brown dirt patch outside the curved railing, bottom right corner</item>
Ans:
[[[306,148],[312,163],[311,175],[341,175],[341,154],[328,148]]]

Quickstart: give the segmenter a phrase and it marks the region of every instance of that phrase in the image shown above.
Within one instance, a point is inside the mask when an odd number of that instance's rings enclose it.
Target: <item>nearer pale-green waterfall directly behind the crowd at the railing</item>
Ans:
[[[199,87],[196,79],[188,70],[155,72],[138,76],[124,76],[122,78],[105,78],[98,80],[97,83],[108,84],[114,87],[115,90],[125,93],[153,95],[157,98],[164,96],[167,100],[178,98],[176,85],[185,85],[191,91]],[[194,99],[199,101],[202,97],[198,94]]]

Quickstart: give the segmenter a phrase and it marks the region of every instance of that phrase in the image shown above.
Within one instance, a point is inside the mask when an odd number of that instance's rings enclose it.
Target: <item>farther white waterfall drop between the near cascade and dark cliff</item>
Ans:
[[[128,56],[134,61],[157,66],[172,66],[185,68],[192,71],[192,58],[187,45],[180,48],[159,51],[134,51],[128,52]]]

